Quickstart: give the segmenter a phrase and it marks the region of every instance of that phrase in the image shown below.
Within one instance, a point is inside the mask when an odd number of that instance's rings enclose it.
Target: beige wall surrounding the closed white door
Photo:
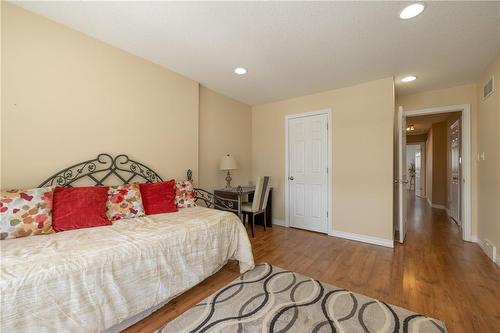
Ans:
[[[334,229],[392,240],[392,78],[252,108],[252,172],[271,176],[273,218],[285,218],[285,116],[325,108],[333,114]]]

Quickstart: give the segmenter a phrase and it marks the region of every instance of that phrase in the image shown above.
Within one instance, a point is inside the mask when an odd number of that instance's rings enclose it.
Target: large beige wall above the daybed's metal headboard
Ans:
[[[98,152],[198,170],[198,83],[2,2],[2,186]]]

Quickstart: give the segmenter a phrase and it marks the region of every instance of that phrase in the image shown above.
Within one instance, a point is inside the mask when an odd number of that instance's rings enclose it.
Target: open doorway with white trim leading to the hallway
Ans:
[[[470,106],[398,113],[395,171],[395,233],[401,243],[411,202],[446,212],[471,241]],[[425,201],[422,201],[423,198]],[[413,201],[412,201],[413,200]]]

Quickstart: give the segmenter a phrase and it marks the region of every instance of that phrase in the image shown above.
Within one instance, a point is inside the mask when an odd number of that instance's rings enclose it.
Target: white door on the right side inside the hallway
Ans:
[[[450,126],[448,147],[449,155],[449,191],[448,207],[450,216],[461,225],[460,222],[460,120],[457,120]]]

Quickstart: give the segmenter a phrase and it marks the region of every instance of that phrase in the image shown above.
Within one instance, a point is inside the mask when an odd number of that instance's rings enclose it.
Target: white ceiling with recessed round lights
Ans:
[[[406,21],[403,2],[16,4],[251,105],[391,75],[398,94],[469,83],[500,54],[500,2],[427,2]]]

